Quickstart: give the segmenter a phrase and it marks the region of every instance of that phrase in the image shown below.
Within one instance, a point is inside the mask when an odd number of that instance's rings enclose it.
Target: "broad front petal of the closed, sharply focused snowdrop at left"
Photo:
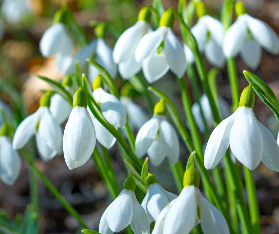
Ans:
[[[76,106],[69,117],[63,136],[64,155],[83,161],[93,153],[96,144],[94,125],[88,111]]]

